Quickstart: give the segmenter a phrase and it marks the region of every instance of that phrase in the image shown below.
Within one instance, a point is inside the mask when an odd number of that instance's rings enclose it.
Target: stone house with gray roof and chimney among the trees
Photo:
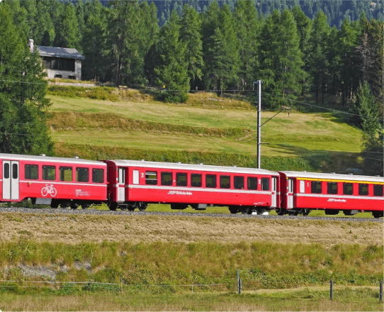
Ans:
[[[43,58],[45,71],[48,78],[63,78],[81,80],[81,62],[85,57],[74,48],[55,48],[43,45],[33,45],[33,39],[29,40],[29,48],[38,49]]]

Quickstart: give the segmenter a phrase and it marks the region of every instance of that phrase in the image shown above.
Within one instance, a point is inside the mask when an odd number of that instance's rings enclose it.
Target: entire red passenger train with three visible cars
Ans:
[[[52,208],[107,203],[111,210],[130,211],[155,203],[196,210],[228,206],[231,213],[274,209],[305,216],[322,209],[383,217],[383,177],[44,155],[0,154],[0,161],[2,202],[31,199]]]

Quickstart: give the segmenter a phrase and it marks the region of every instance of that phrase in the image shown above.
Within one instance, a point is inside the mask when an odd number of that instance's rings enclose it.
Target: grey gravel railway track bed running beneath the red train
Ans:
[[[288,220],[312,220],[312,221],[343,221],[343,222],[378,222],[383,223],[383,218],[349,218],[332,216],[263,216],[230,213],[185,213],[185,212],[157,212],[157,211],[111,211],[97,209],[65,209],[65,208],[23,208],[0,207],[0,213],[42,213],[42,214],[67,214],[67,215],[98,215],[98,216],[188,216],[192,218],[258,218],[258,219],[288,219]]]

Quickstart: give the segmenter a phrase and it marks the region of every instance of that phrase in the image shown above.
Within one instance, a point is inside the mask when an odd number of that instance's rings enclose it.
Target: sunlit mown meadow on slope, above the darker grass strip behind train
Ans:
[[[206,94],[204,98],[202,94],[192,94],[189,103],[163,104],[153,99],[142,100],[141,96],[137,100],[132,95],[111,101],[52,94],[49,124],[58,145],[254,157],[254,106],[225,98],[210,101],[215,99],[210,96],[213,95]],[[262,122],[275,113],[263,112]],[[262,146],[262,156],[345,160],[349,155],[358,167],[361,136],[361,131],[330,113],[280,113],[262,127],[262,142],[268,143]],[[336,163],[338,169],[340,164]]]

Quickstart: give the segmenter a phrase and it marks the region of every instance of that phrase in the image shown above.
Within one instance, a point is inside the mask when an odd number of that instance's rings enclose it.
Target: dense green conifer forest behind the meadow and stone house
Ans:
[[[28,102],[35,116],[44,118],[44,90],[30,84],[43,77],[43,68],[28,62],[32,38],[36,45],[77,48],[86,58],[84,79],[151,86],[161,90],[164,101],[185,101],[196,89],[254,94],[259,79],[269,109],[309,93],[320,106],[325,96],[337,96],[333,108],[354,114],[350,121],[367,133],[366,149],[382,152],[381,2],[266,2],[111,0],[103,6],[98,0],[0,0],[1,96],[17,109]],[[1,107],[6,142],[6,128],[14,128],[15,120]],[[40,130],[47,135],[47,129]],[[13,142],[12,152],[33,150]]]

